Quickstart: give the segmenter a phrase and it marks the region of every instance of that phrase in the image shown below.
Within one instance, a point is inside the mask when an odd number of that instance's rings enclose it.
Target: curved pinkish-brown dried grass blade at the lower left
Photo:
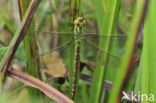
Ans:
[[[57,91],[55,88],[49,86],[48,84],[46,84],[46,83],[40,81],[39,79],[36,79],[28,74],[17,71],[15,69],[11,69],[11,70],[9,70],[8,75],[11,78],[19,80],[29,86],[40,89],[47,96],[49,96],[50,98],[54,99],[55,101],[57,101],[59,103],[74,103],[72,100],[70,100],[64,94]]]

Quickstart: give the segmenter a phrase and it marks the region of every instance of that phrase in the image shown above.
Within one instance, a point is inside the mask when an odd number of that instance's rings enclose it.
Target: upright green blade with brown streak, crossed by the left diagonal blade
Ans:
[[[28,0],[19,0],[19,7],[20,7],[20,17],[21,19],[23,18],[29,2]],[[35,30],[35,22],[34,19],[32,19],[30,27],[28,31],[32,32]],[[34,39],[31,39],[34,38]],[[36,47],[36,39],[35,39],[35,34],[34,33],[29,33],[26,34],[25,39],[24,39],[24,44],[25,44],[25,53],[26,53],[26,62],[27,62],[27,72],[31,76],[34,76],[36,78],[41,79],[41,73],[40,73],[40,66],[39,66],[39,60],[38,59],[38,54]],[[33,101],[35,98],[41,98],[41,92],[33,87],[28,87],[28,93],[31,101]]]

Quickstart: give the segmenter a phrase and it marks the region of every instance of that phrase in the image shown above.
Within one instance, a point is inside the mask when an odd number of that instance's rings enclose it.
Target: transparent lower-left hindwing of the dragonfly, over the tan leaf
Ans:
[[[41,55],[42,64],[46,68],[44,69],[45,73],[55,78],[64,78],[67,73],[66,63],[69,62],[71,48],[73,48],[73,41],[69,41],[67,44]]]

